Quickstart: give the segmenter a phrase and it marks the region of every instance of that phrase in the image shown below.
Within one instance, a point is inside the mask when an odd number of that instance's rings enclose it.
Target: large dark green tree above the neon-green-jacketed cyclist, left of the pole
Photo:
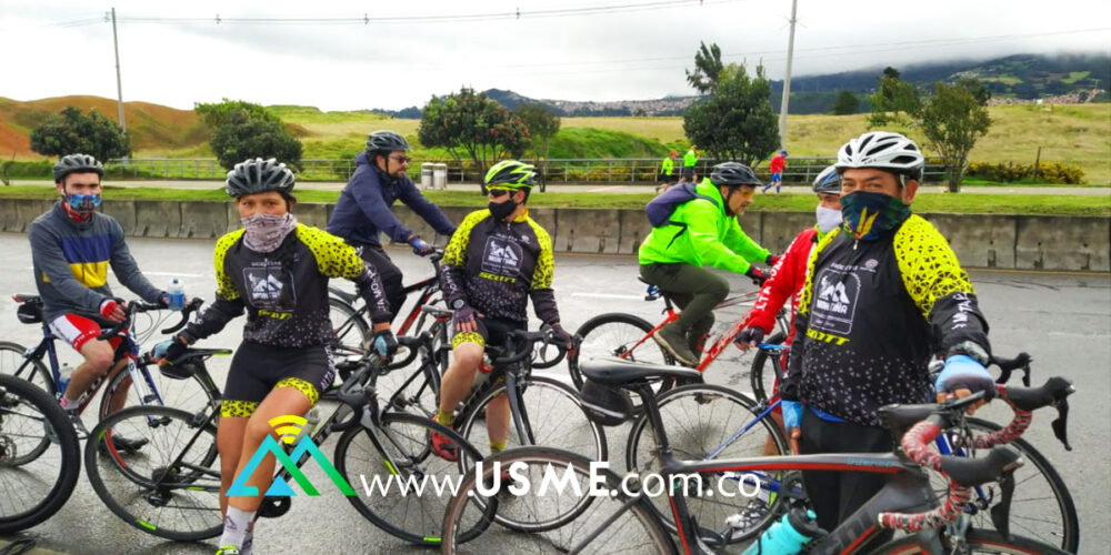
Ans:
[[[763,67],[757,67],[755,78],[744,65],[722,68],[713,94],[683,112],[683,132],[715,160],[752,165],[768,158],[779,147],[779,120]]]

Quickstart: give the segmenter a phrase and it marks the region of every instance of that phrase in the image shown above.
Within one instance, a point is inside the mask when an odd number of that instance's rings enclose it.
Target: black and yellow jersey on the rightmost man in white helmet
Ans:
[[[810,256],[788,379],[780,393],[833,416],[880,425],[889,403],[932,400],[933,353],[987,362],[988,324],[945,239],[918,215],[874,241],[843,228]]]

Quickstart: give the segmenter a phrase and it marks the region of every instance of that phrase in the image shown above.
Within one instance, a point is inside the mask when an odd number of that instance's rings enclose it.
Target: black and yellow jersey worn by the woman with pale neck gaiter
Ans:
[[[374,323],[389,322],[390,310],[374,269],[342,239],[297,224],[271,253],[243,244],[243,230],[216,244],[216,302],[186,333],[203,339],[223,329],[247,309],[243,341],[278,347],[331,342],[328,279],[346,278],[358,285]]]

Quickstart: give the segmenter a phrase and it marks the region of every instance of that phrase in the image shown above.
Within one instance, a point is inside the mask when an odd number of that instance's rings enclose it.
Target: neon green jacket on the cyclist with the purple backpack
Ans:
[[[695,198],[680,204],[671,214],[675,223],[653,228],[640,245],[642,265],[682,263],[744,273],[749,261],[768,259],[770,252],[744,234],[737,218],[725,214],[721,191],[709,179],[695,191],[713,201]]]

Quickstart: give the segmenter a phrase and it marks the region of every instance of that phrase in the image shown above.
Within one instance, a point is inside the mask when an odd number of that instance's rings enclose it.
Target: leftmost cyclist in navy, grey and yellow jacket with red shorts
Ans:
[[[167,294],[139,271],[119,222],[97,212],[104,167],[88,154],[68,154],[54,164],[53,173],[61,199],[31,222],[28,238],[43,316],[54,335],[84,359],[73,370],[61,398],[62,408],[83,436],[87,432],[78,398],[98,377],[126,363],[119,361],[113,366],[120,337],[97,339],[101,327],[118,324],[126,315],[123,301],[108,286],[108,268],[123,286],[149,303],[164,305]],[[126,395],[117,398],[122,406]]]

